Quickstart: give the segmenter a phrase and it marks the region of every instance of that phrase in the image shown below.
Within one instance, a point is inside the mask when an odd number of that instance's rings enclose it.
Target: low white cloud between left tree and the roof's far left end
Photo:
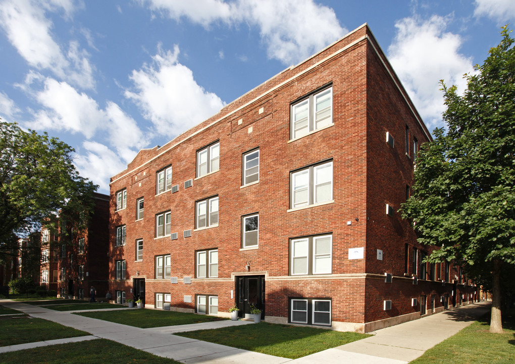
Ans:
[[[109,179],[115,171],[123,171],[127,164],[104,144],[85,141],[82,144],[85,152],[79,151],[75,155],[75,166],[81,176],[90,178],[93,183],[100,186],[102,193],[109,193]]]

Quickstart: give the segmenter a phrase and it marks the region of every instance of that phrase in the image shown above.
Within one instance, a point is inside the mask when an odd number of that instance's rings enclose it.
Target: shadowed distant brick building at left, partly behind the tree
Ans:
[[[41,285],[60,297],[88,299],[91,286],[97,296],[107,293],[109,196],[95,193],[94,202],[86,231],[74,231],[71,222],[62,220],[58,230],[41,231]]]

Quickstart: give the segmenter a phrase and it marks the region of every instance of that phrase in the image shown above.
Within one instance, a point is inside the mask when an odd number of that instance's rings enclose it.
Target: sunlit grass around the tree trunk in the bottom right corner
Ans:
[[[490,317],[462,329],[410,364],[515,363],[515,310],[503,317],[504,334],[488,332]]]

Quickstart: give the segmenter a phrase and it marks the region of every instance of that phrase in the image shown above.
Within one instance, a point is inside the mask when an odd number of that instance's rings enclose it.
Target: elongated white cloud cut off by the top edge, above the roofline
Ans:
[[[269,58],[298,63],[347,34],[334,10],[313,0],[141,0],[144,5],[179,21],[207,27],[215,22],[247,23],[260,29]],[[201,5],[199,3],[202,3]]]

